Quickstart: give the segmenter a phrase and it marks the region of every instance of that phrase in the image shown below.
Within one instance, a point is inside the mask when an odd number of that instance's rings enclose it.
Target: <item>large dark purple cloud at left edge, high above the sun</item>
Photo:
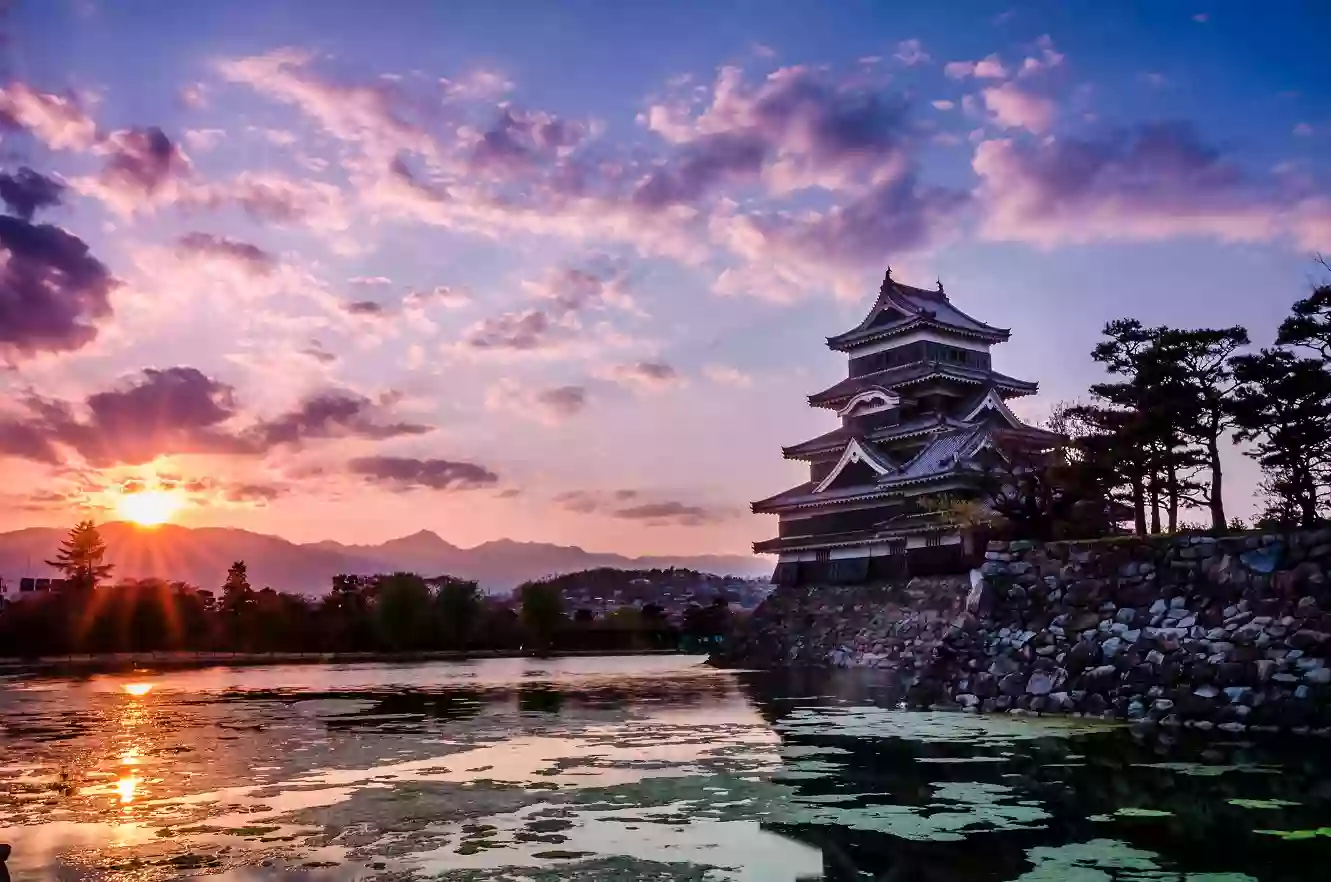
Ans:
[[[77,235],[0,217],[0,355],[24,358],[87,346],[110,315],[117,282]]]

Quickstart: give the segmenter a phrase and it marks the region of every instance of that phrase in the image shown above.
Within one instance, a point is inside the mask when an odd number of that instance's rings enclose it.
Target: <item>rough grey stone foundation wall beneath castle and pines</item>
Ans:
[[[922,704],[1331,726],[1331,529],[992,543],[964,577],[777,588],[723,662],[893,668]]]

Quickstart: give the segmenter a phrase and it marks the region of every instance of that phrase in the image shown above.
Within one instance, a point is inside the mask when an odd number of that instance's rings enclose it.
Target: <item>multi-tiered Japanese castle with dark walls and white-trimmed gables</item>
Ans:
[[[779,555],[773,581],[853,583],[973,565],[962,529],[926,500],[973,496],[1002,455],[1000,439],[1058,440],[1008,407],[1037,390],[993,370],[989,347],[1008,337],[953,306],[941,282],[912,287],[888,270],[864,321],[827,341],[847,354],[847,378],[809,395],[841,426],[783,448],[809,464],[809,479],[752,506],[779,517],[777,537],[753,545]]]

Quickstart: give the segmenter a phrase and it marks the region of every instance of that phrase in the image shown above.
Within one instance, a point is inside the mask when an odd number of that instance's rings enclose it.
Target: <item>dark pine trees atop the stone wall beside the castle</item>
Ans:
[[[1323,263],[1324,265],[1324,263]],[[1328,267],[1331,269],[1331,267]],[[1254,527],[1311,527],[1331,506],[1331,285],[1294,303],[1274,346],[1246,329],[1105,326],[1093,358],[1109,379],[1061,404],[1049,455],[1014,442],[985,508],[1024,539],[1081,539],[1130,524],[1139,535],[1244,528],[1225,508],[1221,451],[1243,443],[1262,467]],[[1201,523],[1186,521],[1201,512]],[[972,515],[982,520],[982,515]]]

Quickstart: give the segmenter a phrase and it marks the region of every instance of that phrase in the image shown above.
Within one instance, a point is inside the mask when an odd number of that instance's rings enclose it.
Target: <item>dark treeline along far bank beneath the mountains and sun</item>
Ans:
[[[673,649],[719,633],[721,600],[671,624],[659,608],[596,617],[563,592],[524,585],[516,603],[475,581],[415,573],[337,576],[323,597],[249,584],[236,561],[218,591],[180,581],[112,581],[97,528],[75,527],[48,561],[64,585],[0,605],[0,656],[109,652],[430,652]]]

